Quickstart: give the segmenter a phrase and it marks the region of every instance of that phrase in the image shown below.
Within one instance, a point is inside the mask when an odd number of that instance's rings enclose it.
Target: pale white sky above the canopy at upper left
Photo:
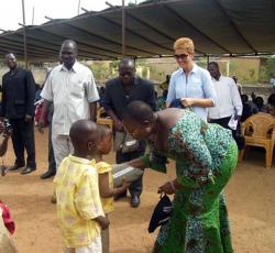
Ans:
[[[47,22],[45,15],[52,19],[72,18],[77,15],[79,0],[25,0],[25,23],[32,24],[34,8],[34,24]],[[121,0],[108,0],[111,4],[121,6]],[[125,0],[125,4],[135,0]],[[141,2],[141,1],[138,1]],[[16,30],[18,23],[23,23],[22,0],[0,0],[0,29]],[[80,0],[80,6],[89,11],[108,8],[106,0]],[[82,13],[82,11],[80,11]]]

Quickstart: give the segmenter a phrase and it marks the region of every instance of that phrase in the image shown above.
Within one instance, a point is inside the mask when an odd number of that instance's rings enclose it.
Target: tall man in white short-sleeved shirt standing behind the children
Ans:
[[[38,128],[45,125],[44,113],[50,102],[54,103],[52,121],[52,141],[56,168],[64,157],[73,152],[69,140],[70,125],[81,119],[96,119],[97,86],[91,70],[76,61],[77,44],[66,40],[61,48],[62,65],[56,66],[50,74],[41,92],[44,99]]]

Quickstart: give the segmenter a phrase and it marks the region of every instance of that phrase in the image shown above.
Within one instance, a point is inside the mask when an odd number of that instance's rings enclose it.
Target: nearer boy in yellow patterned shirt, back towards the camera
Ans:
[[[97,124],[76,121],[69,131],[74,154],[63,160],[54,179],[58,224],[66,252],[102,252],[101,229],[109,227],[98,188],[95,156]]]

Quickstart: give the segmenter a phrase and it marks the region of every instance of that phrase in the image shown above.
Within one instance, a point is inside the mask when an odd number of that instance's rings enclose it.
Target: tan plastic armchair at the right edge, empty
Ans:
[[[240,161],[243,160],[246,146],[262,146],[266,152],[265,166],[271,168],[275,143],[274,117],[263,112],[251,116],[242,124],[242,134],[245,139],[245,146],[240,153]]]

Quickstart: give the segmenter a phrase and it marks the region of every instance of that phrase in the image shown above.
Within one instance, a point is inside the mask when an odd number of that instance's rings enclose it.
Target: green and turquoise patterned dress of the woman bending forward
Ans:
[[[160,230],[161,252],[233,252],[222,193],[238,161],[231,132],[186,111],[169,130],[168,148],[167,156],[176,161],[177,180],[184,187],[175,194],[170,221]],[[165,172],[161,157],[151,150],[143,161]]]

